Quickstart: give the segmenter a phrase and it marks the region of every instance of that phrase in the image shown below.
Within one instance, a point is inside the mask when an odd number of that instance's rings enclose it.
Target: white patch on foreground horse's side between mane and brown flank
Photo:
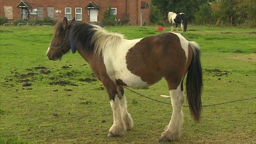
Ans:
[[[107,74],[111,80],[116,83],[116,80],[122,80],[127,86],[134,88],[143,88],[149,86],[146,82],[142,81],[139,76],[132,74],[126,64],[126,54],[130,48],[132,48],[136,43],[140,42],[142,38],[135,40],[122,40],[118,44],[113,53],[113,47],[111,42],[106,44],[103,53],[103,60],[107,70]]]

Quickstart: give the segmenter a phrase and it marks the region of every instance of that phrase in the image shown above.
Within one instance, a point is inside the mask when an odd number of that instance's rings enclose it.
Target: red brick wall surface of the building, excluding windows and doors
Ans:
[[[88,22],[89,16],[88,11],[85,8],[89,2],[98,2],[100,4],[100,9],[98,13],[98,21],[102,20],[103,14],[108,8],[109,3],[111,3],[112,8],[117,8],[118,19],[123,20],[125,18],[125,12],[129,14],[130,24],[140,25],[140,3],[141,0],[28,0],[32,5],[32,9],[37,7],[44,7],[44,17],[47,17],[47,7],[53,7],[54,10],[60,10],[59,15],[54,16],[57,20],[62,20],[65,16],[65,7],[71,8],[72,17],[75,16],[75,8],[82,8],[82,21]],[[125,8],[125,2],[127,1],[127,10]],[[148,1],[150,6],[150,0]],[[12,6],[13,10],[13,20],[20,19],[21,13],[20,8],[16,8],[20,0],[0,0],[0,16],[4,16],[4,6]],[[143,19],[149,22],[150,9],[144,10]],[[9,20],[13,22],[13,20]],[[143,21],[142,21],[143,22]]]

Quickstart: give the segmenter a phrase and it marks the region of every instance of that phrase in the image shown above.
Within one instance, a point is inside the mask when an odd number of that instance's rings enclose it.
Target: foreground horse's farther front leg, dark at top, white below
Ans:
[[[126,125],[126,129],[131,130],[133,128],[133,120],[131,118],[131,115],[127,112],[127,104],[126,104],[126,98],[124,96],[123,86],[117,85],[117,91],[118,91],[118,96],[120,98],[120,104],[122,107],[122,118]]]

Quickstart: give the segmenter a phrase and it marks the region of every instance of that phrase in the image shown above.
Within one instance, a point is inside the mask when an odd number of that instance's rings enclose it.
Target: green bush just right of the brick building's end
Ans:
[[[156,6],[151,6],[151,12],[150,12],[150,23],[152,24],[157,24],[160,26],[164,25],[164,18],[160,12],[160,10],[158,10],[156,8]]]

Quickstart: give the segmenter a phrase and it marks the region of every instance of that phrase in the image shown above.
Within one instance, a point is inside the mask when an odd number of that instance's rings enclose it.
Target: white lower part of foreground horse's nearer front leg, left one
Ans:
[[[110,101],[110,105],[113,110],[114,122],[111,128],[109,129],[108,136],[124,135],[124,132],[126,131],[126,126],[122,119],[122,113],[121,113],[122,108],[120,106],[120,100],[117,94],[115,96],[115,101],[114,100]]]

